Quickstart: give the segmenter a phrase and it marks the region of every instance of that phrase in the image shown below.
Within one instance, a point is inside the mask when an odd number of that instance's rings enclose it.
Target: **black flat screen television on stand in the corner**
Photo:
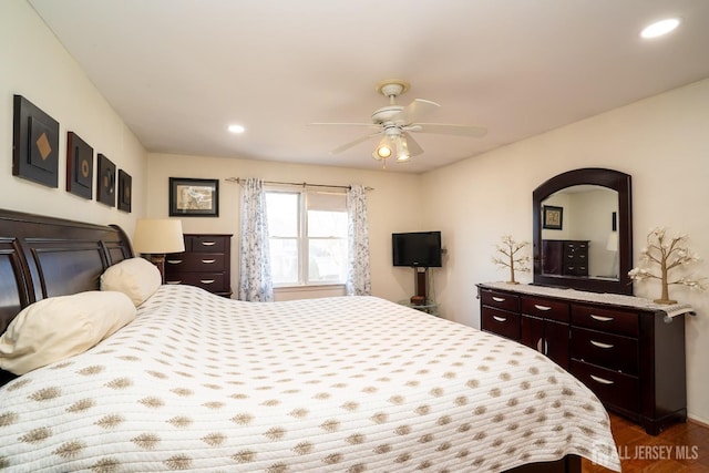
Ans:
[[[391,254],[394,266],[440,268],[441,232],[391,234]]]

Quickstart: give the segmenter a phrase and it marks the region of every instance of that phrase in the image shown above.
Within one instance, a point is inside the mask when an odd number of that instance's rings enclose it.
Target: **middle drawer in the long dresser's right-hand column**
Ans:
[[[571,345],[573,359],[638,374],[639,348],[636,338],[573,327]]]

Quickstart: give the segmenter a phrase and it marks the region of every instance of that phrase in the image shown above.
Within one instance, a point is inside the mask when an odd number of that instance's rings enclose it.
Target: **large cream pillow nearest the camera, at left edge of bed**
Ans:
[[[25,307],[0,337],[0,368],[16,374],[83,353],[135,318],[122,292],[58,296]]]

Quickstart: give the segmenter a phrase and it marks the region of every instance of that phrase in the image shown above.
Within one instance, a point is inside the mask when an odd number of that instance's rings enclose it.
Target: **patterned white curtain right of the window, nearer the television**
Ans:
[[[347,295],[369,296],[372,291],[369,274],[369,235],[367,230],[367,196],[357,184],[347,193],[349,265]]]

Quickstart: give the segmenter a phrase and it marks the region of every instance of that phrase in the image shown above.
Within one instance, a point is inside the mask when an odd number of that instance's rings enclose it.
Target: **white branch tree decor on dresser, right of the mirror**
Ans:
[[[660,280],[662,294],[659,299],[654,300],[656,304],[677,304],[676,300],[669,298],[670,285],[688,286],[699,290],[705,290],[709,287],[707,278],[698,278],[692,274],[669,279],[670,270],[699,261],[699,256],[687,248],[687,235],[669,237],[666,228],[653,228],[647,235],[647,246],[640,251],[640,260],[645,266],[659,265],[659,274],[640,267],[633,268],[628,273],[630,279],[638,281],[646,279]]]

